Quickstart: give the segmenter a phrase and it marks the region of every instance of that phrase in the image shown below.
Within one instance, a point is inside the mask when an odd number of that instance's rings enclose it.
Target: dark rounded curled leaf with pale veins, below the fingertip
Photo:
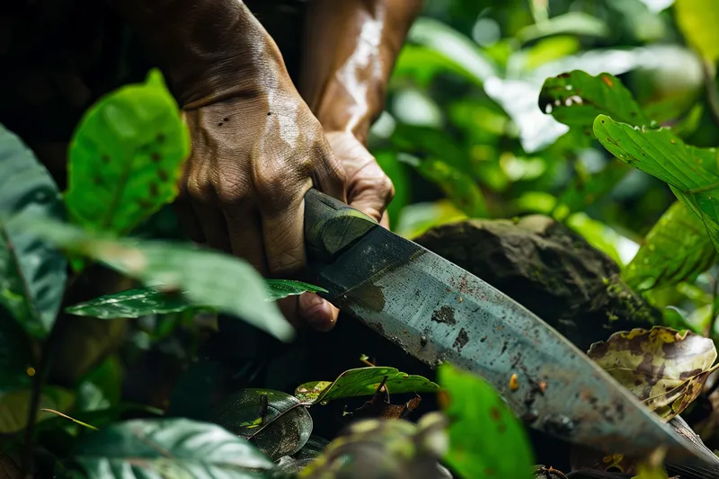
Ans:
[[[272,460],[303,448],[313,428],[312,416],[295,396],[271,389],[240,389],[217,406],[210,421],[250,439]]]

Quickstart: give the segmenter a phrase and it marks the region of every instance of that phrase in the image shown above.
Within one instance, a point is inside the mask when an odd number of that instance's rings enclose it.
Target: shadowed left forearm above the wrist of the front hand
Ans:
[[[274,41],[241,0],[112,0],[145,37],[185,107],[286,81]]]

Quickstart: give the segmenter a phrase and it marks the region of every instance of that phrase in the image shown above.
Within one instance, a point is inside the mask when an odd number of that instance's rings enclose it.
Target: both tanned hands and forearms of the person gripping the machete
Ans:
[[[305,263],[313,186],[386,225],[394,188],[368,153],[368,129],[421,0],[311,2],[302,96],[240,0],[115,5],[155,49],[191,131],[178,211],[193,239],[288,277]],[[320,330],[339,314],[310,294],[280,307]]]

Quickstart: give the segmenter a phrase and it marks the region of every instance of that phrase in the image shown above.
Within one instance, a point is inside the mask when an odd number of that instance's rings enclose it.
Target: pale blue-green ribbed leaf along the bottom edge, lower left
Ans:
[[[246,440],[186,419],[115,423],[86,434],[73,460],[90,479],[258,479],[274,467]]]

